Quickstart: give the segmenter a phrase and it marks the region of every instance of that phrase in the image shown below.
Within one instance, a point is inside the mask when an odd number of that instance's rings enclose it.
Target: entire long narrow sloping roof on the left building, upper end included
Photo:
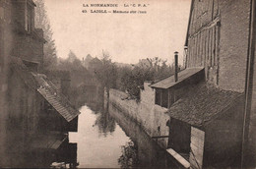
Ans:
[[[25,84],[37,90],[66,121],[70,122],[80,114],[45,75],[30,72],[21,58],[10,58],[11,68],[23,79]]]

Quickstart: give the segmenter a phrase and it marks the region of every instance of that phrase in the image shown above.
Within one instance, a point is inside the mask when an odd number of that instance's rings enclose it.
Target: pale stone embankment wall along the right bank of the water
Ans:
[[[128,94],[117,89],[110,89],[109,101],[126,116],[137,122],[150,137],[168,136],[166,122],[169,116],[166,108],[155,104],[155,91],[145,83],[141,90],[141,101],[127,99]],[[161,147],[167,147],[168,138],[156,139]]]

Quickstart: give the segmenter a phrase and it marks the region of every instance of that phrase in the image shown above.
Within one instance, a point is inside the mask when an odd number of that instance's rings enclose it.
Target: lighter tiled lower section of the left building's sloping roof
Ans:
[[[56,86],[50,82],[43,74],[34,74],[35,80],[40,85],[37,91],[48,101],[48,103],[70,122],[76,118],[80,112],[75,109],[65,95],[60,93]]]

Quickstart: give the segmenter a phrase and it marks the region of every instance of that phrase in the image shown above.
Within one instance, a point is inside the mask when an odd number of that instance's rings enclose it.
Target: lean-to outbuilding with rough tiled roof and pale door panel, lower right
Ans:
[[[202,82],[168,110],[168,148],[194,168],[227,167],[239,161],[243,94]]]

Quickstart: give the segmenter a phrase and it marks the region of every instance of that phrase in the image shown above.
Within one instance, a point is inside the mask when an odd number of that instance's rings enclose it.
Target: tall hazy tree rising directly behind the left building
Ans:
[[[34,26],[35,28],[42,28],[44,32],[44,39],[47,41],[44,44],[44,69],[54,69],[57,65],[57,55],[55,41],[52,38],[52,29],[45,10],[44,0],[35,0],[35,16]]]

